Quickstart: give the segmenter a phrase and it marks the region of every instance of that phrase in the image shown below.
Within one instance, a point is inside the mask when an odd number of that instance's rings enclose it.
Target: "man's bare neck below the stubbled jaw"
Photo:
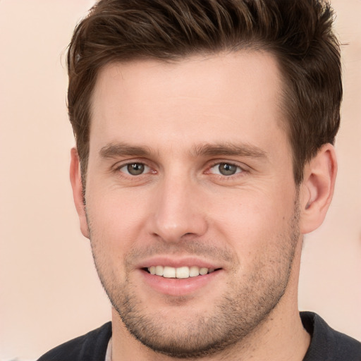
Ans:
[[[116,311],[113,312],[116,313]],[[275,322],[277,318],[278,320]],[[128,333],[123,322],[118,319],[117,313],[113,317],[113,333],[112,361],[178,360],[178,358],[156,353],[142,345]],[[274,310],[264,324],[255,329],[252,334],[243,338],[232,348],[207,356],[207,360],[302,361],[309,345],[310,335],[303,328],[298,312],[293,314],[283,312],[280,316]]]

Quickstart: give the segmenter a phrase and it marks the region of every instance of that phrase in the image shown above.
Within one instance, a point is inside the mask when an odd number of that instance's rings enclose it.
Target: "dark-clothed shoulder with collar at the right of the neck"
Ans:
[[[331,329],[313,312],[300,312],[302,324],[311,335],[310,348],[304,361],[360,361],[361,343],[355,338]]]

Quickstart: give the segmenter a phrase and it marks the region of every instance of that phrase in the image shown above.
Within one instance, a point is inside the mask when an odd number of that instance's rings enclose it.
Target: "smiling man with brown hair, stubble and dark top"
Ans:
[[[298,312],[342,97],[317,0],[102,0],[68,51],[71,183],[112,322],[39,360],[361,360]]]

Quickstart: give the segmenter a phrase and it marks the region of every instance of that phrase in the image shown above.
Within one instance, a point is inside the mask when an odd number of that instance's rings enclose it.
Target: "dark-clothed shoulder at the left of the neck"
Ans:
[[[92,361],[104,360],[111,338],[111,322],[99,329],[63,343],[42,355],[37,361]]]

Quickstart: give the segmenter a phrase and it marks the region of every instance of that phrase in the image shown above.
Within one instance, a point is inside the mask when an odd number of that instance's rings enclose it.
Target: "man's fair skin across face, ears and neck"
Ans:
[[[85,207],[76,149],[71,182],[113,305],[113,361],[305,355],[302,235],[322,224],[336,158],[324,145],[296,187],[280,78],[260,51],[115,63],[99,73]],[[127,164],[144,172],[132,175]],[[234,174],[221,173],[225,164]],[[157,288],[143,270],[157,262],[217,271],[200,286],[152,276]]]

